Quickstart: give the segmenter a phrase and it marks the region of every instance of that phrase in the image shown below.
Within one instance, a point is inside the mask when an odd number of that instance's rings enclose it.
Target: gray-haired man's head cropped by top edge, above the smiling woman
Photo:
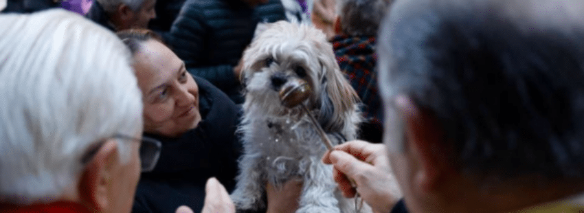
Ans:
[[[156,18],[155,4],[156,0],[95,0],[85,16],[114,32],[146,29]]]

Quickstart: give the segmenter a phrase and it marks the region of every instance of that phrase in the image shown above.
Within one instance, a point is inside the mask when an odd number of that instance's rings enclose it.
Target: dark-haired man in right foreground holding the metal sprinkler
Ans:
[[[385,146],[326,155],[339,189],[350,177],[378,212],[582,212],[565,200],[584,192],[582,5],[396,1],[377,46]],[[403,201],[380,187],[390,164]]]

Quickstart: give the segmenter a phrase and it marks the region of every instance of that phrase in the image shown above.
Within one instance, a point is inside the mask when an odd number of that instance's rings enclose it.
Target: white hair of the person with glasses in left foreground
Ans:
[[[124,44],[82,16],[2,14],[0,25],[0,202],[51,202],[78,182],[89,147],[142,132],[142,93]]]

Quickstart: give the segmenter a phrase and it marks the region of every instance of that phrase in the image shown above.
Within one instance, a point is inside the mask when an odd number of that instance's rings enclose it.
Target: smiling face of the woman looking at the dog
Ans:
[[[166,45],[150,39],[134,54],[144,99],[144,132],[178,137],[201,121],[199,87],[183,61]]]

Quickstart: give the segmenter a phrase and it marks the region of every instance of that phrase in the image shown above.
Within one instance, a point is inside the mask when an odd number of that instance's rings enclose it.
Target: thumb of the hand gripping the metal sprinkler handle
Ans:
[[[370,164],[360,161],[352,155],[343,151],[334,150],[330,153],[330,161],[339,172],[342,172],[347,177],[355,179],[357,175],[363,174],[363,171],[371,167]]]

